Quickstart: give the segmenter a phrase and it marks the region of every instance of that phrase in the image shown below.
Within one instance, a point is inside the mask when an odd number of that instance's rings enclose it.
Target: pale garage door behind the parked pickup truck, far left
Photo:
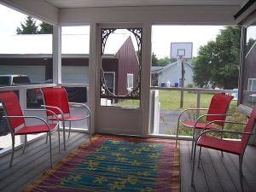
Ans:
[[[25,74],[33,84],[45,81],[44,66],[0,66],[0,74]]]

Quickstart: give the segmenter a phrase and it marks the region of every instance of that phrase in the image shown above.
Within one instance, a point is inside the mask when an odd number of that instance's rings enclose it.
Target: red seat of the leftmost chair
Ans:
[[[50,131],[55,129],[57,124],[49,124]],[[49,131],[47,125],[28,125],[22,127],[20,130],[15,131],[15,135],[26,135],[40,132],[48,132]]]

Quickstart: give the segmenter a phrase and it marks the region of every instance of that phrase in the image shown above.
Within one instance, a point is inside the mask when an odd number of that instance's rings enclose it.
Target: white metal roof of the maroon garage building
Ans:
[[[129,34],[110,35],[104,54],[115,55]],[[51,34],[23,34],[0,37],[0,55],[47,55],[52,54]],[[2,46],[4,45],[4,46]],[[90,52],[89,34],[62,34],[62,54],[84,54]]]

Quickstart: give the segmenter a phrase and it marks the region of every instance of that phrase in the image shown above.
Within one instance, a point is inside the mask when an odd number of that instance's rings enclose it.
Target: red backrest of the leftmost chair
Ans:
[[[4,113],[7,116],[23,116],[20,108],[20,102],[14,91],[0,92],[0,101],[3,104]],[[9,118],[9,126],[11,130],[25,124],[24,118]]]

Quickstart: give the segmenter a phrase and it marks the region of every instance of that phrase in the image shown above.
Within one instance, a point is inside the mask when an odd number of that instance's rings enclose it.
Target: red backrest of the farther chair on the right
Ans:
[[[232,101],[233,96],[225,95],[223,93],[216,93],[212,96],[212,101],[209,106],[208,114],[225,114],[228,111],[230,102]],[[224,120],[226,116],[217,115],[217,116],[207,116],[207,121],[212,120]],[[224,125],[223,122],[216,122],[217,125]]]

